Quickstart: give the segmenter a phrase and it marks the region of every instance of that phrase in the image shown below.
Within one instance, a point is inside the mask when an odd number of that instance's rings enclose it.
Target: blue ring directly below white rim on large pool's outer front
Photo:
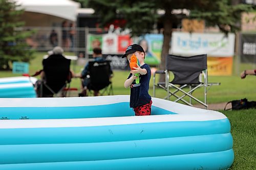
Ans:
[[[0,129],[0,144],[110,142],[229,132],[230,123],[227,118],[94,127],[17,128]]]

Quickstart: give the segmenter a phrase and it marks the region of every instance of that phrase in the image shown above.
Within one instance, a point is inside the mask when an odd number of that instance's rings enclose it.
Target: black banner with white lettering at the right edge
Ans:
[[[256,34],[241,34],[240,56],[243,63],[256,63]]]

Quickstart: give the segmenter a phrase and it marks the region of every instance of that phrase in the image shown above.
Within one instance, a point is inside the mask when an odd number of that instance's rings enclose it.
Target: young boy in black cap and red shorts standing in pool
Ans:
[[[150,86],[151,70],[150,66],[144,63],[145,52],[138,44],[132,44],[126,48],[125,54],[122,58],[126,57],[129,63],[131,62],[132,55],[135,55],[139,61],[139,65],[131,70],[127,80],[124,82],[124,87],[131,88],[130,107],[133,108],[136,116],[150,115],[152,100],[148,89]],[[136,84],[139,74],[139,83]]]

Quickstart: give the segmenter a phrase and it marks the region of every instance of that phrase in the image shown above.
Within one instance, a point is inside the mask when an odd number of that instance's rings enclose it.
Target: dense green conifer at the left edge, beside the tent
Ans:
[[[32,32],[23,31],[24,22],[19,20],[23,12],[16,10],[12,1],[0,0],[0,69],[10,69],[13,61],[29,62],[33,58],[25,41]]]

